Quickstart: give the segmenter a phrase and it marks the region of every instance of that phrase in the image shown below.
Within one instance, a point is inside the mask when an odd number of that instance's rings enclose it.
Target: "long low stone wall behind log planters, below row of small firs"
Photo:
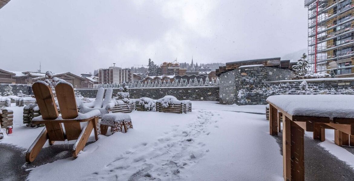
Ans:
[[[77,89],[82,96],[95,98],[97,89]],[[115,96],[119,89],[113,89]],[[130,98],[137,99],[149,97],[159,99],[166,95],[175,96],[179,100],[191,101],[219,101],[219,87],[201,86],[201,87],[173,87],[173,88],[130,88]]]

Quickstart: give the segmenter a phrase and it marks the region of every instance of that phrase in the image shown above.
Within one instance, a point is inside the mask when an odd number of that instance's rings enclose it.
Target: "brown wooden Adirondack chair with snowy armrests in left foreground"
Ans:
[[[45,123],[45,128],[29,147],[26,153],[27,162],[34,161],[47,140],[50,145],[54,144],[55,141],[76,140],[73,147],[73,157],[76,158],[79,152],[84,149],[92,129],[95,133],[95,139],[98,139],[96,125],[100,113],[98,110],[85,114],[78,113],[72,85],[58,83],[55,88],[61,116],[58,114],[53,92],[48,84],[36,82],[33,84],[32,89],[42,114],[42,116],[36,117],[32,122],[37,124]],[[80,122],[87,122],[87,126],[81,129]]]

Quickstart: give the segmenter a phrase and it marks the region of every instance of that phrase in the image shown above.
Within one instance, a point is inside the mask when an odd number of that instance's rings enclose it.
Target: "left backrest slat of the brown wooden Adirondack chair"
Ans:
[[[59,113],[51,87],[45,82],[36,82],[32,85],[32,90],[42,118],[45,120],[56,119]]]

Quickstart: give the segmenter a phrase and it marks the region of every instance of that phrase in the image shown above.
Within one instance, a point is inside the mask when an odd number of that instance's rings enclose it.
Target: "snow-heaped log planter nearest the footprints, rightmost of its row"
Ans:
[[[192,102],[189,100],[179,101],[174,96],[165,96],[156,101],[156,111],[177,114],[191,112]]]

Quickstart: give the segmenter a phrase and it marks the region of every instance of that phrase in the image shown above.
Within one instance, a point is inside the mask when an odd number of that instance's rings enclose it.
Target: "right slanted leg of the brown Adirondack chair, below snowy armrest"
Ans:
[[[81,150],[84,150],[84,147],[87,143],[87,140],[90,137],[90,134],[92,132],[93,129],[93,123],[94,120],[90,120],[87,125],[84,127],[84,129],[82,129],[78,140],[76,140],[74,147],[73,147],[73,157],[76,158],[78,157],[78,154]]]

